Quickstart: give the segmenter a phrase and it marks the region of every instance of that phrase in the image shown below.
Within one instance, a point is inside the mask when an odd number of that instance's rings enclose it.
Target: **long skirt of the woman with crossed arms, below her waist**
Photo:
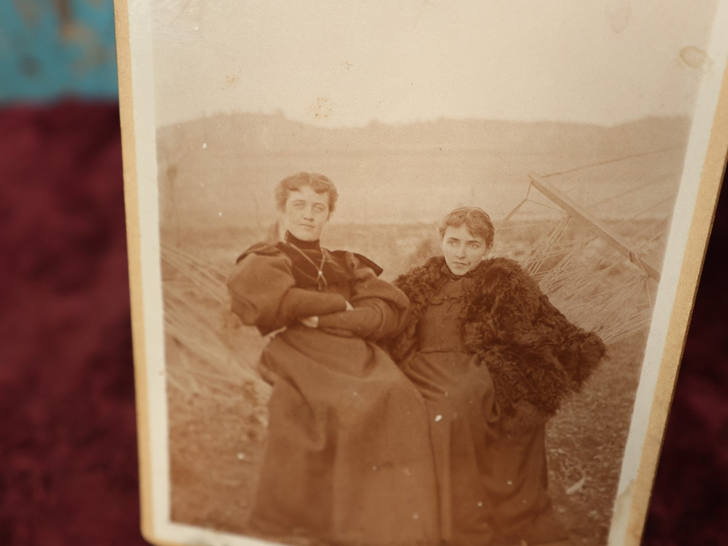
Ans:
[[[261,366],[275,379],[250,529],[341,545],[437,544],[427,408],[387,354],[293,326]]]

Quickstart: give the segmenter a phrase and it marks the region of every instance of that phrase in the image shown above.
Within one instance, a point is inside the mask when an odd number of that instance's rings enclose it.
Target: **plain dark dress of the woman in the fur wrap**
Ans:
[[[482,475],[497,420],[488,369],[465,348],[464,278],[443,269],[439,286],[416,324],[416,352],[400,364],[427,403],[438,475],[440,532],[447,544],[487,545],[492,507]]]

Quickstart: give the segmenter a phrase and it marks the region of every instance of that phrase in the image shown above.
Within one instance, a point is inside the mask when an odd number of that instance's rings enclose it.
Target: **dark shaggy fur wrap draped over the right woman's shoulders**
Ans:
[[[433,257],[395,281],[411,302],[405,329],[387,347],[397,362],[416,351],[416,324],[444,281],[444,265]],[[464,344],[493,377],[502,430],[545,422],[606,356],[604,343],[571,324],[513,260],[485,260],[463,282]]]

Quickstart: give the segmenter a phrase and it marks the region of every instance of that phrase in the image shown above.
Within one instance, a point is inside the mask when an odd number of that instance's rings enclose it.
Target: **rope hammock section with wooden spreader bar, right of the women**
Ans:
[[[566,188],[574,186],[574,177],[588,187],[590,171],[600,166],[639,158],[654,161],[654,156],[675,150],[662,148],[540,177],[529,174],[526,197],[496,229],[508,233],[508,247],[497,253],[520,262],[569,320],[597,332],[607,344],[644,332],[652,319],[652,294],[660,280],[666,224],[676,196],[676,191],[665,191],[665,182],[676,182],[679,172],[640,180],[590,204],[577,203]],[[559,188],[559,179],[567,176],[569,184]],[[610,203],[612,211],[635,203],[640,208],[598,217]]]

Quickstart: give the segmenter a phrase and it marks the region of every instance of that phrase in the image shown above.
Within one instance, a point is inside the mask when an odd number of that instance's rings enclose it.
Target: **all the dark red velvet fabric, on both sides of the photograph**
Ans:
[[[118,119],[114,104],[0,111],[0,545],[145,544]],[[726,201],[647,546],[728,543]]]

